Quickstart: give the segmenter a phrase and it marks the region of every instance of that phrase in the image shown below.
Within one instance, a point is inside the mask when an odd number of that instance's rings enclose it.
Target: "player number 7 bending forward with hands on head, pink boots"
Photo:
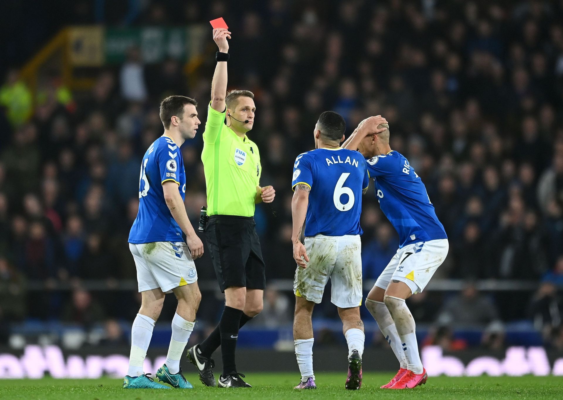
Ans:
[[[365,306],[400,362],[399,372],[381,386],[412,389],[428,375],[418,354],[415,323],[405,300],[424,290],[448,255],[448,236],[438,221],[426,187],[409,161],[389,146],[389,129],[378,117],[363,121],[345,142],[367,158],[379,206],[399,233],[399,250],[365,300]]]

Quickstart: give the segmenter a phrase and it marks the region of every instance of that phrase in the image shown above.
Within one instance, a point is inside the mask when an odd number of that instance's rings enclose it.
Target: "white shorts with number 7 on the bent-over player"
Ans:
[[[413,294],[424,290],[448,255],[448,239],[413,243],[397,250],[383,269],[376,286],[387,289],[391,280],[404,282]]]

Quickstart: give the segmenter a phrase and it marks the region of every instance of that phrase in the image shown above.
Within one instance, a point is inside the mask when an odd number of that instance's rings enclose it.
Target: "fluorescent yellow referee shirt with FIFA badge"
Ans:
[[[207,215],[254,216],[262,166],[256,144],[225,125],[225,111],[207,107],[202,161],[207,185]]]

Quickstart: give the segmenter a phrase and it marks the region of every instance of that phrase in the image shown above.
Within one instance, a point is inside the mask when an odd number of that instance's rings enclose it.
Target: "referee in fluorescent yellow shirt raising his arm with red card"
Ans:
[[[239,328],[262,311],[265,264],[254,223],[254,204],[274,201],[271,186],[260,187],[260,153],[246,133],[254,124],[254,95],[227,92],[227,61],[231,38],[227,29],[213,29],[219,51],[211,83],[211,104],[203,132],[202,161],[207,184],[205,239],[225,308],[217,327],[201,344],[188,350],[204,385],[215,386],[211,355],[221,345],[223,374],[218,385],[250,387],[236,371]]]

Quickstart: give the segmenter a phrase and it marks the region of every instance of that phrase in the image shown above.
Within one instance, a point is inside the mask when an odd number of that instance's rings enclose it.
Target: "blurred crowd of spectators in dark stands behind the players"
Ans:
[[[243,3],[252,7],[149,2],[136,23],[225,16],[233,32],[229,88],[256,95],[256,127],[249,136],[261,149],[261,183],[277,194],[271,208],[258,205],[256,212],[267,276],[293,277],[292,164],[314,146],[319,114],[342,114],[347,134],[360,120],[381,114],[390,124],[391,148],[425,182],[449,236],[450,254],[435,278],[537,281],[538,293],[524,300],[527,317],[540,329],[560,332],[563,3]],[[163,97],[194,97],[205,122],[216,51],[211,28],[208,39],[197,78],[186,78],[182,60],[144,65],[133,47],[123,65],[100,71],[87,93],[71,93],[56,75],[45,80],[33,113],[29,89],[15,71],[7,75],[0,88],[0,284],[62,281],[79,287],[81,280],[115,285],[135,278],[127,236],[137,214],[141,157],[163,132]],[[205,204],[202,132],[203,125],[182,146],[193,223]],[[371,187],[361,220],[364,280],[379,275],[398,244]],[[206,259],[198,264],[200,278],[214,278],[210,265]],[[437,307],[428,307],[425,295],[411,302],[429,322],[526,317],[506,313],[506,305],[495,311],[493,297],[467,303],[467,314],[452,308],[477,295],[463,291],[458,303],[442,311],[441,298]],[[28,311],[37,317],[72,318],[72,306],[79,304],[64,296],[33,296],[45,304]],[[276,296],[269,300],[271,315],[281,307],[277,303],[291,303]],[[134,309],[133,294],[127,299]],[[113,301],[105,295],[100,300]],[[0,315],[8,315],[0,307]],[[215,317],[211,310],[206,315]],[[489,334],[496,340],[498,329]],[[563,334],[555,336],[563,341]],[[448,332],[436,337],[446,340]]]

